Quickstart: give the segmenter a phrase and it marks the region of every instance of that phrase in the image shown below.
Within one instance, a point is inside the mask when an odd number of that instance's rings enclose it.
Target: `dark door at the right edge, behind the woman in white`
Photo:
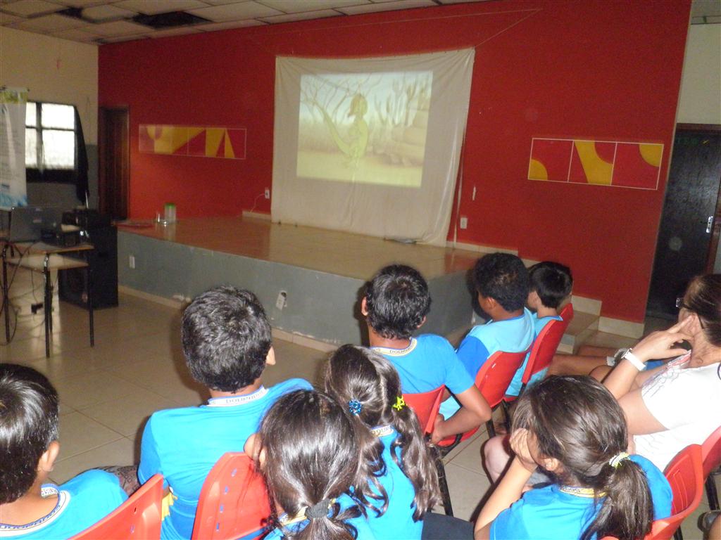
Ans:
[[[676,297],[704,274],[721,189],[721,131],[676,130],[647,315],[676,318]]]

